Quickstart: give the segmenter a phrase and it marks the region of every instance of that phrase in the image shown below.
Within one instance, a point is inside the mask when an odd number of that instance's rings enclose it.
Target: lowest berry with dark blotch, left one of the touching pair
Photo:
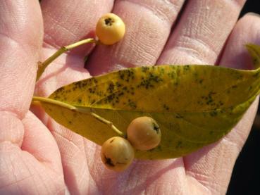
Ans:
[[[123,137],[111,137],[102,145],[101,160],[106,168],[123,171],[128,168],[134,158],[134,149],[130,142]]]

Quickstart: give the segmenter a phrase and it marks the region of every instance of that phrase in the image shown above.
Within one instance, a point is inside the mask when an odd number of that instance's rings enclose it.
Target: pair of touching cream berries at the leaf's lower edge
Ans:
[[[127,130],[127,139],[112,137],[104,142],[101,159],[107,168],[122,171],[135,158],[135,150],[154,149],[161,141],[161,130],[153,118],[143,116],[132,120]]]

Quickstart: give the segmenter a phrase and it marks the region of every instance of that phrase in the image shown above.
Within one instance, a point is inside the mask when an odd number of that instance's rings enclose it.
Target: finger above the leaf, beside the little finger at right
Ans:
[[[157,64],[214,64],[244,0],[188,1]]]

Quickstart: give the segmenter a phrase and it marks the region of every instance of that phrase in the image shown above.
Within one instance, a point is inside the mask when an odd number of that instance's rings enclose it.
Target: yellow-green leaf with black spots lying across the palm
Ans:
[[[260,47],[248,45],[259,67]],[[125,132],[140,116],[156,120],[161,143],[135,157],[184,156],[227,134],[260,92],[260,68],[234,70],[211,65],[129,68],[68,84],[42,101],[64,127],[101,145],[117,136],[91,113]]]

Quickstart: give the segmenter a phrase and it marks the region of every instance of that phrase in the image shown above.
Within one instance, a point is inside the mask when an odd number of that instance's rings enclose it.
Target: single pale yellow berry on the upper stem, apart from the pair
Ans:
[[[106,13],[97,22],[96,34],[102,44],[115,44],[124,37],[125,23],[118,15]]]

